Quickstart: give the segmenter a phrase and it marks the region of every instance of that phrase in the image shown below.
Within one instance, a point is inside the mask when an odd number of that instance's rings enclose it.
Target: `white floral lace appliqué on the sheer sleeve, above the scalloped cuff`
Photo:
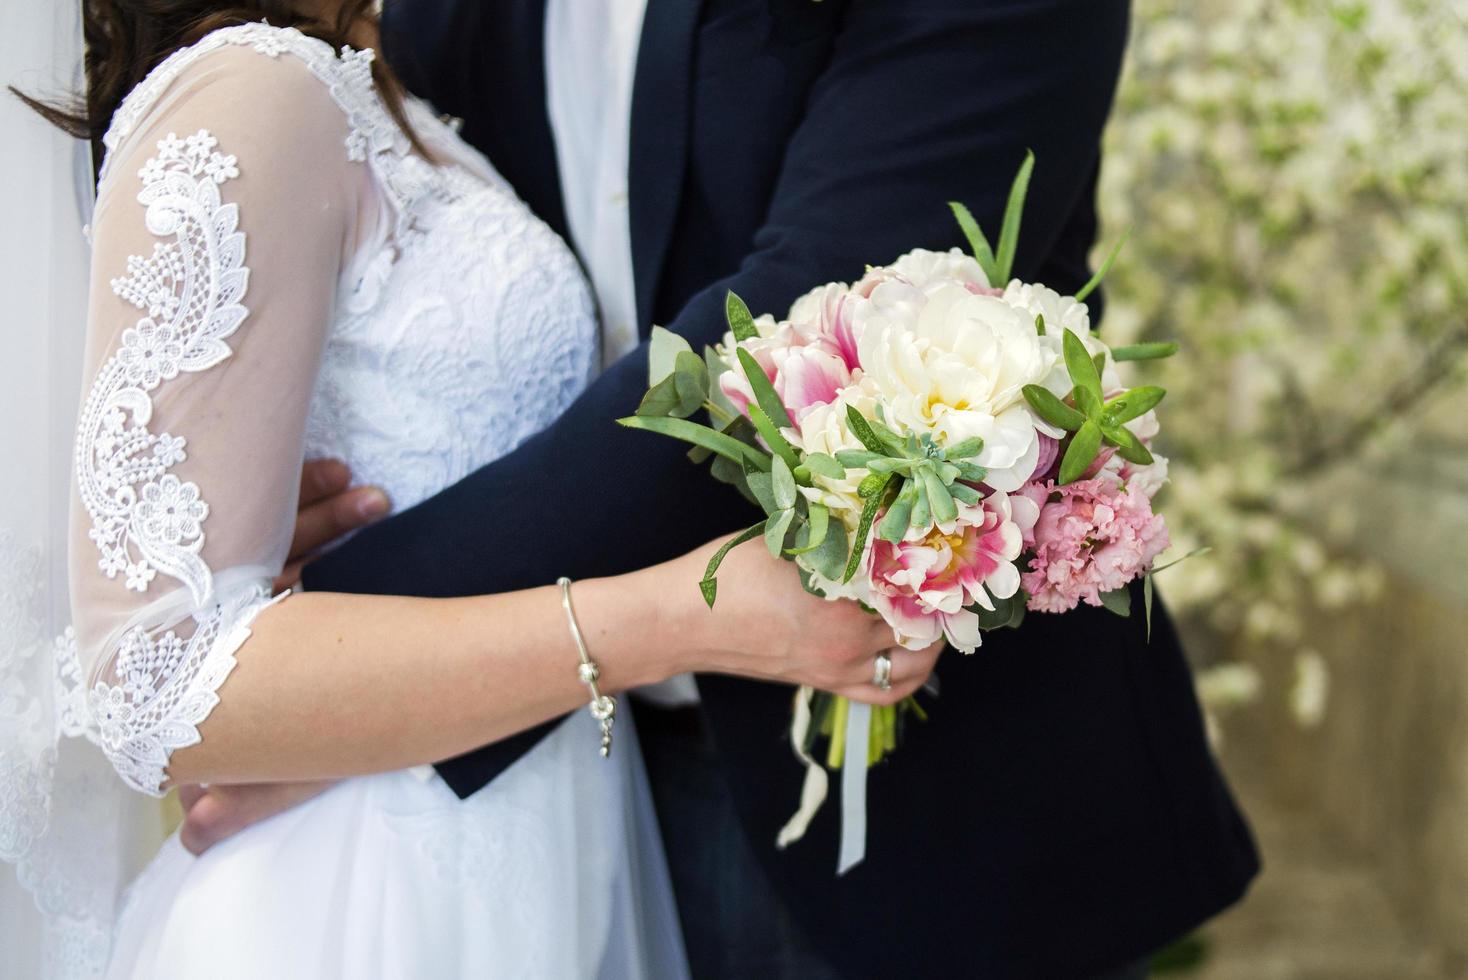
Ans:
[[[245,236],[238,208],[219,191],[239,167],[217,145],[203,129],[186,139],[169,134],[138,173],[148,229],[172,238],[131,257],[126,276],[112,280],[144,315],[103,364],[76,430],[78,489],[103,575],[122,574],[142,593],[161,571],[188,585],[195,604],[213,590],[200,557],[208,505],[197,484],[169,472],[188,459],[185,440],[154,434],[148,423],[151,393],[228,358],[226,339],[248,315]]]

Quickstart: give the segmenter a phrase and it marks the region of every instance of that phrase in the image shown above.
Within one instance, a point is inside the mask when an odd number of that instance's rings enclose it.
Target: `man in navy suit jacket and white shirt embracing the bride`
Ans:
[[[646,386],[650,326],[699,349],[722,334],[730,289],[782,311],[863,263],[960,245],[944,202],[995,227],[1026,148],[1017,274],[1075,290],[1126,29],[1124,0],[389,6],[410,88],[461,117],[575,245],[609,367],[549,430],[361,531],[305,587],[492,593],[633,569],[747,524],[675,443],[612,421]],[[298,543],[357,493],[307,508]],[[800,795],[788,690],[700,676],[639,710],[696,976],[1142,976],[1243,892],[1257,855],[1164,610],[1149,643],[1139,618],[1032,616],[938,673],[929,720],[871,775],[868,857],[844,877],[835,805],[774,846]],[[473,794],[545,731],[439,772]],[[238,823],[292,792],[213,813]]]

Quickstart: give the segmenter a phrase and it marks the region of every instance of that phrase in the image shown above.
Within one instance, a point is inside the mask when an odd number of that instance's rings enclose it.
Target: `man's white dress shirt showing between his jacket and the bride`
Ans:
[[[603,364],[640,340],[627,158],[646,10],[647,0],[546,3],[546,110],[571,244],[586,264],[602,312]],[[699,700],[691,675],[639,688],[639,694],[666,707]]]

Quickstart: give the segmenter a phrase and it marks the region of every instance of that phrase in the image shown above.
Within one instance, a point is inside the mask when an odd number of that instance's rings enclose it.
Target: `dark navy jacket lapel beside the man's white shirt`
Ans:
[[[672,223],[683,200],[693,104],[693,44],[702,0],[647,0],[633,76],[628,219],[637,323],[652,326]]]

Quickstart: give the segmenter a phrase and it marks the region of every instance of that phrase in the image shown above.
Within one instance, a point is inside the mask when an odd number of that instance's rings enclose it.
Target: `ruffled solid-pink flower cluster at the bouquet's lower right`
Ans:
[[[1053,480],[1020,490],[1039,506],[1025,544],[1035,557],[1022,577],[1033,612],[1069,612],[1101,604],[1167,549],[1167,524],[1152,502],[1113,471],[1057,486]]]

